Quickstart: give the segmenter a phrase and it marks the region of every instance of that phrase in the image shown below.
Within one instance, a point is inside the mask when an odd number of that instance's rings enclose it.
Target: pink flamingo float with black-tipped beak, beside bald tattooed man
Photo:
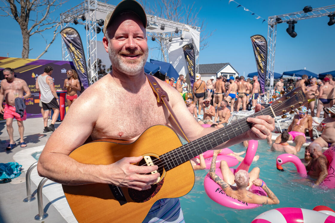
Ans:
[[[320,184],[320,186],[326,187],[328,189],[335,189],[335,146],[330,147],[329,149],[324,151],[323,154],[327,157],[328,160],[328,175],[326,179]],[[277,169],[280,171],[284,171],[281,165],[286,162],[292,162],[301,177],[307,176],[305,165],[296,155],[292,154],[285,153],[277,156]]]

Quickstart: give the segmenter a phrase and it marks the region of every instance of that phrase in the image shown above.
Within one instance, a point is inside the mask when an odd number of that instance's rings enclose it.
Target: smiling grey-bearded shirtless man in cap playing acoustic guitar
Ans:
[[[125,11],[120,12],[121,9]],[[113,70],[89,86],[73,103],[62,124],[45,145],[37,170],[40,176],[65,185],[100,183],[147,190],[159,176],[159,173],[150,174],[158,166],[133,165],[143,159],[141,154],[133,153],[138,156],[117,158],[118,161],[104,165],[84,164],[69,157],[88,137],[92,140],[117,139],[132,143],[153,125],[169,125],[183,135],[165,106],[157,104],[156,95],[144,73],[148,45],[143,8],[137,2],[128,0],[119,3],[113,12],[105,20],[103,37]],[[190,141],[216,130],[199,125],[188,112],[180,94],[169,84],[154,79],[169,96],[169,104]],[[260,105],[257,105],[256,111],[260,111]],[[271,116],[250,117],[248,122],[252,123],[251,130],[222,143],[222,146],[264,139],[274,129]],[[157,212],[169,212],[171,215],[162,216]],[[144,222],[157,218],[182,222],[179,199],[157,201]]]

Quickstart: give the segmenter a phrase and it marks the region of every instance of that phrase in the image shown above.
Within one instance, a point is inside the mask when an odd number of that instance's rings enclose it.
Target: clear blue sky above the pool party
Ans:
[[[116,5],[118,0],[107,1]],[[149,2],[153,2],[149,0]],[[194,1],[182,0],[183,4],[192,4]],[[237,0],[238,3],[267,20],[268,16],[279,15],[301,11],[306,5],[313,8],[335,4],[331,0],[282,0],[282,1],[248,1]],[[71,0],[62,5],[55,16],[80,3]],[[3,3],[0,3],[3,6]],[[228,0],[195,1],[195,7],[200,9],[198,17],[205,19],[207,27],[205,32],[216,31],[207,39],[209,45],[200,51],[200,64],[230,63],[241,75],[256,72],[255,57],[251,45],[250,36],[261,34],[267,37],[267,21],[255,19],[255,16],[247,12],[243,7]],[[3,13],[2,13],[3,14]],[[11,17],[0,17],[1,19],[1,43],[0,56],[21,57],[22,36],[17,22]],[[277,25],[277,41],[275,54],[275,72],[299,70],[306,68],[314,73],[323,73],[335,70],[334,63],[334,36],[335,24],[328,26],[329,17],[305,19],[295,24],[297,36],[290,37],[286,33],[288,25],[281,23]],[[81,34],[85,48],[85,30],[83,26],[74,24]],[[46,38],[51,36],[46,33]],[[102,32],[98,34],[98,40],[103,37]],[[151,43],[150,43],[151,42]],[[152,41],[149,40],[149,46]],[[45,48],[45,42],[40,35],[30,38],[29,58],[35,59]],[[156,59],[156,52],[149,53],[149,59]],[[41,59],[62,60],[61,37],[58,35],[49,51]]]

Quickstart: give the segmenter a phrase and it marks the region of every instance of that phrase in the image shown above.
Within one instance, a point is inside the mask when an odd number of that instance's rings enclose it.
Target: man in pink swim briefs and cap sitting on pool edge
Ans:
[[[294,115],[293,121],[288,126],[288,134],[290,135],[288,140],[293,140],[295,142],[296,152],[299,152],[301,146],[306,142],[306,131],[313,139],[313,131],[312,131],[312,116],[307,114],[307,108],[305,106],[302,107],[302,110],[299,111],[298,115]],[[281,134],[276,138],[275,143],[279,144],[281,141]]]

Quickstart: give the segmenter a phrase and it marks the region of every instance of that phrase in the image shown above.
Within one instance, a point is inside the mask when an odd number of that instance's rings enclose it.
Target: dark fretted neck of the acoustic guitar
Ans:
[[[247,118],[254,118],[259,115],[270,115],[272,118],[275,117],[272,108],[268,107],[264,110],[249,115],[248,117],[245,117],[231,125],[220,128],[201,138],[182,145],[179,148],[160,155],[159,159],[163,162],[165,171],[171,170],[172,168],[175,168],[176,166],[189,161],[193,157],[250,130],[252,123],[247,122]]]

